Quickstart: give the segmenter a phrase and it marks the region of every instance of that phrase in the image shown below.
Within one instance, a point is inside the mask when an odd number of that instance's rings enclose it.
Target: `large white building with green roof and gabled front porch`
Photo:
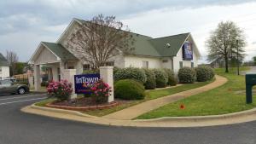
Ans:
[[[40,65],[49,67],[49,78],[60,80],[64,69],[76,69],[77,73],[90,69],[90,64],[82,60],[78,48],[67,44],[71,35],[85,22],[73,19],[65,32],[55,43],[41,42],[38,45],[30,64],[35,66],[35,75],[39,75]],[[177,72],[183,66],[197,66],[201,57],[190,33],[169,37],[153,38],[137,33],[134,37],[134,50],[130,54],[115,56],[108,65],[117,67],[170,68]]]

